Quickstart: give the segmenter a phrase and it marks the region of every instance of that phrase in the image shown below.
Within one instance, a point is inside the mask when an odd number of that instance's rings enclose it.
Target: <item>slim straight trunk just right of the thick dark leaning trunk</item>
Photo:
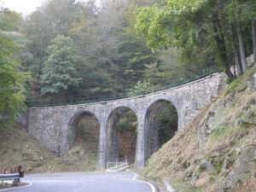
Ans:
[[[235,37],[236,37],[236,31],[234,26],[230,26],[230,34],[232,36],[232,47],[233,47],[233,51],[234,51],[234,59],[235,59],[235,65],[236,65],[236,75],[237,77],[239,77],[242,73],[242,69],[241,69],[241,60],[240,60],[240,55],[239,55],[239,50],[237,47],[237,44],[235,42]]]

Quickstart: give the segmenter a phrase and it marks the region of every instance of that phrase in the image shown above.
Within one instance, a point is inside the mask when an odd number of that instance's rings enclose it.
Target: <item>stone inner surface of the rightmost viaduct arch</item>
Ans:
[[[152,102],[146,110],[145,119],[144,119],[145,160],[148,160],[151,154],[153,154],[160,148],[161,136],[159,131],[159,117],[160,117],[160,113],[162,113],[162,111],[165,108],[169,108],[172,110],[173,112],[172,119],[174,122],[174,127],[172,127],[171,130],[170,129],[167,130],[167,131],[172,131],[171,133],[166,134],[167,140],[171,139],[174,132],[178,130],[178,123],[180,119],[179,119],[178,109],[175,107],[175,105],[167,99],[159,99],[157,101]],[[168,118],[171,118],[171,117],[168,117]]]

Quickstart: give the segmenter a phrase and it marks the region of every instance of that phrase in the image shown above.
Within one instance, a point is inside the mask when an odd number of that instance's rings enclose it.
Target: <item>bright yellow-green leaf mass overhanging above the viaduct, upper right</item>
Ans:
[[[196,22],[195,14],[205,8],[206,3],[204,0],[167,0],[160,8],[154,5],[138,9],[135,28],[138,33],[143,34],[148,46],[152,48],[159,45],[166,48],[170,45],[191,47],[196,38],[193,28],[193,22]]]

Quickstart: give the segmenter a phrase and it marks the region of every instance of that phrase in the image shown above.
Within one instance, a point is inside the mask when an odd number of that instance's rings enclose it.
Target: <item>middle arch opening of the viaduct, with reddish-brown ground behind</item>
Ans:
[[[131,108],[119,107],[108,117],[106,160],[134,158],[137,140],[137,116]]]

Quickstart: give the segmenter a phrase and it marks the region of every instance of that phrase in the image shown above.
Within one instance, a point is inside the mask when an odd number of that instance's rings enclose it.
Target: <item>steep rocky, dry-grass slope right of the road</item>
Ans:
[[[152,155],[143,177],[176,191],[256,191],[255,90],[254,64]]]

